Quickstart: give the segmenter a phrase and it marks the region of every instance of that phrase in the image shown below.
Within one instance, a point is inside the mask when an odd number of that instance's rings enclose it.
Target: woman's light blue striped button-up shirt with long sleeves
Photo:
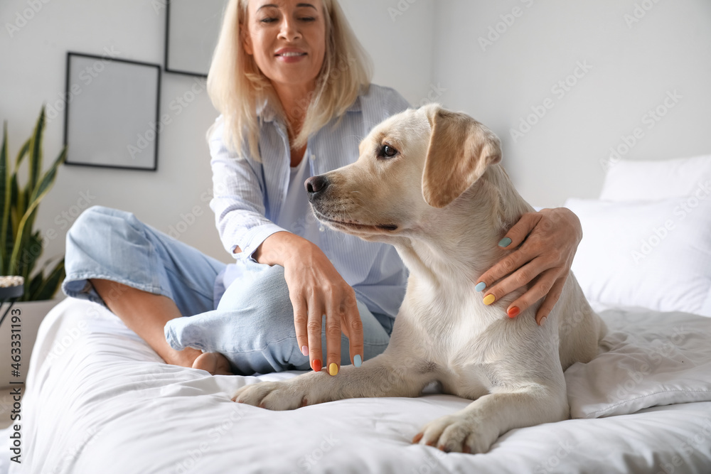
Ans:
[[[346,114],[334,119],[309,138],[304,159],[309,159],[311,176],[326,173],[358,159],[358,144],[373,126],[402,112],[409,104],[395,90],[370,85]],[[218,122],[222,122],[220,117]],[[290,147],[286,126],[272,109],[260,116],[259,148],[262,161],[245,153],[238,158],[223,143],[223,124],[210,136],[214,197],[210,208],[225,249],[237,259],[251,259],[257,247],[274,232],[287,229],[274,222],[289,222],[282,215],[290,175]],[[306,193],[303,183],[301,186]],[[293,216],[291,229],[304,237],[307,227],[319,222]],[[242,253],[233,254],[236,247]],[[321,226],[319,247],[343,279],[353,287],[358,300],[373,313],[395,317],[405,297],[407,269],[395,247],[365,242],[352,235]]]

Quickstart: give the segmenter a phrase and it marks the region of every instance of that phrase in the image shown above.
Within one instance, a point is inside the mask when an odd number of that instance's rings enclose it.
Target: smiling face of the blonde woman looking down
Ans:
[[[277,89],[313,90],[326,53],[321,0],[250,0],[245,52]]]

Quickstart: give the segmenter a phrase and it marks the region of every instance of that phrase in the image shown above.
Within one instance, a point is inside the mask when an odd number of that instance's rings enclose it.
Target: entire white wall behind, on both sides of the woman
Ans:
[[[14,156],[43,102],[60,102],[67,50],[163,62],[162,0],[0,1],[0,120],[9,122]],[[625,14],[649,3],[637,23]],[[11,34],[31,4],[36,13]],[[375,63],[374,82],[395,87],[412,104],[436,99],[491,126],[503,140],[504,164],[525,198],[560,205],[567,196],[592,198],[604,176],[601,161],[636,127],[643,138],[626,158],[661,159],[711,153],[711,2],[707,0],[341,0]],[[530,6],[527,6],[529,5]],[[522,16],[482,50],[479,36],[518,6]],[[510,18],[508,18],[510,21]],[[499,26],[501,28],[501,26]],[[503,28],[501,28],[503,29]],[[578,61],[592,69],[565,97],[551,91]],[[173,123],[159,138],[157,172],[63,166],[41,206],[38,225],[45,258],[63,254],[66,226],[85,205],[130,210],[168,232],[187,226],[181,240],[229,262],[201,195],[210,189],[204,134],[216,117],[205,92],[175,114],[169,104],[194,84],[165,73],[161,112]],[[642,117],[663,104],[667,91],[682,96],[653,129]],[[552,109],[516,143],[510,129],[550,98]],[[63,114],[46,129],[50,161],[63,141]],[[203,196],[204,197],[204,196]],[[197,212],[195,212],[197,211]],[[200,215],[195,215],[199,213]],[[183,227],[181,227],[182,229]],[[48,233],[53,230],[54,233]]]

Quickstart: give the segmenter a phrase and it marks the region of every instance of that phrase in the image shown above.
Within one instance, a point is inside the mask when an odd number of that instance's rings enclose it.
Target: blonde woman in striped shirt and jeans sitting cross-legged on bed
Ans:
[[[407,108],[369,82],[336,0],[230,1],[208,76],[222,115],[208,136],[210,207],[237,261],[225,266],[133,215],[92,208],[68,233],[65,293],[105,303],[166,362],[213,374],[321,370],[323,361],[336,375],[385,350],[407,271],[390,246],[319,228],[302,185],[355,161],[358,137]],[[525,215],[499,243],[520,247],[472,284],[498,301],[535,281],[502,312],[515,317],[547,295],[542,323],[581,237],[565,209]]]

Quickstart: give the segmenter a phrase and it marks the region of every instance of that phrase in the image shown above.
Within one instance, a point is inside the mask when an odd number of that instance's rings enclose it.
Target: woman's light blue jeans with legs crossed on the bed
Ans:
[[[176,350],[220,352],[238,375],[309,370],[309,357],[296,343],[282,266],[249,260],[225,265],[132,213],[95,206],[83,212],[67,233],[65,268],[62,290],[73,298],[105,305],[89,279],[117,281],[171,298],[186,316],[165,327],[166,340]],[[387,347],[393,320],[357,303],[363,360],[368,360]],[[325,354],[325,335],[321,343]],[[341,365],[350,363],[348,339],[343,336]]]

